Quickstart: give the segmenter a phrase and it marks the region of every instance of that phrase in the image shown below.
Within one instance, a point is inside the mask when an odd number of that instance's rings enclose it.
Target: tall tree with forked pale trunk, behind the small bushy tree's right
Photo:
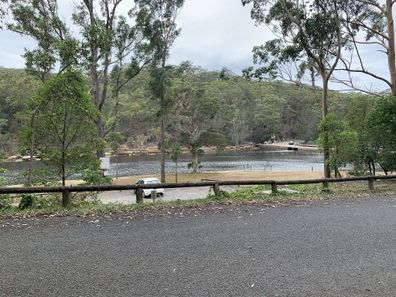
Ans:
[[[84,37],[81,47],[83,63],[90,73],[91,96],[99,112],[104,111],[105,102],[109,97],[110,71],[111,66],[115,65],[113,74],[118,72],[115,75],[118,78],[113,90],[113,96],[116,97],[116,115],[118,92],[125,84],[119,80],[125,59],[130,59],[132,65],[127,81],[134,78],[150,59],[145,55],[147,47],[143,45],[145,39],[142,32],[138,27],[131,26],[125,17],[120,16],[121,2],[123,0],[83,0],[76,6],[73,15]],[[100,13],[96,12],[97,6]],[[134,16],[134,10],[135,7],[131,5],[129,16]],[[97,137],[100,140],[104,140],[114,128],[114,124],[106,127],[104,118],[100,116],[96,119],[96,126]],[[97,152],[98,157],[103,154],[103,150]]]

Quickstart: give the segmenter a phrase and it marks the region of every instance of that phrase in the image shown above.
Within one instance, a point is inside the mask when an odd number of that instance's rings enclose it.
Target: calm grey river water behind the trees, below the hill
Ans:
[[[200,158],[201,171],[320,171],[323,169],[323,156],[319,153],[302,153],[295,151],[260,151],[243,153],[222,153],[220,155],[204,155]],[[178,172],[190,172],[187,165],[190,156],[181,156]],[[43,167],[41,162],[35,162],[35,167]],[[18,174],[26,171],[28,162],[0,163],[7,168],[8,174],[0,176],[8,181],[15,180]],[[110,176],[132,176],[158,174],[159,156],[133,156],[111,159]],[[174,173],[175,164],[168,160],[166,172]]]

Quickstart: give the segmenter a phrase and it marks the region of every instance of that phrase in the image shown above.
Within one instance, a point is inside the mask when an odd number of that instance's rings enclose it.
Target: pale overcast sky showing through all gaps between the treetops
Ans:
[[[61,17],[69,23],[73,1],[59,0]],[[121,9],[126,11],[128,2],[132,0],[125,0]],[[186,0],[178,24],[182,33],[171,50],[169,63],[189,60],[207,70],[227,67],[241,74],[242,69],[252,65],[253,47],[274,38],[265,26],[255,26],[250,8],[243,7],[241,0]],[[34,48],[34,42],[13,32],[0,31],[0,66],[23,68],[25,48]],[[385,56],[374,49],[366,49],[364,55],[369,69],[387,75]],[[361,86],[385,88],[366,76],[356,76],[355,80]]]

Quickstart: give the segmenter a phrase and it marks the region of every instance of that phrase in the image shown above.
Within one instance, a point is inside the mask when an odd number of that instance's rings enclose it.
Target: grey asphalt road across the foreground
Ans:
[[[396,197],[173,211],[0,221],[0,295],[396,296]]]

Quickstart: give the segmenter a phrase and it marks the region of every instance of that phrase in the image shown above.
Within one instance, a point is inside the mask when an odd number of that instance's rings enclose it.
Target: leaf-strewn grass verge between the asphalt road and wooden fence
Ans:
[[[288,190],[288,191],[285,191]],[[291,190],[291,191],[290,191]],[[86,202],[83,196],[75,196],[73,207],[64,209],[60,206],[58,195],[37,198],[32,208],[19,209],[14,205],[0,209],[0,219],[37,217],[37,216],[87,216],[87,215],[110,215],[115,213],[141,213],[141,212],[169,212],[180,211],[186,208],[196,209],[210,205],[283,205],[295,201],[321,201],[335,199],[356,199],[374,196],[393,195],[396,191],[396,183],[381,181],[375,183],[375,190],[369,191],[366,182],[350,182],[330,184],[329,191],[323,191],[322,185],[294,185],[279,187],[277,193],[271,193],[269,186],[241,187],[231,193],[222,192],[217,197],[209,195],[206,199],[177,200],[165,202],[156,200],[154,203],[137,204],[103,204],[91,199]],[[92,194],[91,194],[92,195]],[[1,198],[0,198],[1,199]],[[3,197],[0,201],[11,198]],[[15,202],[15,198],[14,199]],[[45,203],[40,202],[44,199]]]

